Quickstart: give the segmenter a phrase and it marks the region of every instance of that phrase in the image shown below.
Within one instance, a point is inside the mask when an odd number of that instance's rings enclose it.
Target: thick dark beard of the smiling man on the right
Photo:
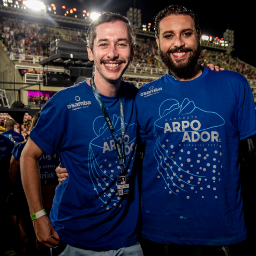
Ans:
[[[176,59],[175,61],[172,60],[170,54],[178,51],[190,52],[189,59],[188,60]],[[181,47],[179,49],[169,49],[167,52],[163,52],[161,49],[159,49],[159,55],[163,63],[166,65],[166,67],[169,69],[171,73],[177,75],[178,77],[184,77],[191,72],[191,70],[198,63],[198,58],[200,56],[200,53],[201,53],[200,44],[198,44],[197,49],[192,49],[189,47]]]

